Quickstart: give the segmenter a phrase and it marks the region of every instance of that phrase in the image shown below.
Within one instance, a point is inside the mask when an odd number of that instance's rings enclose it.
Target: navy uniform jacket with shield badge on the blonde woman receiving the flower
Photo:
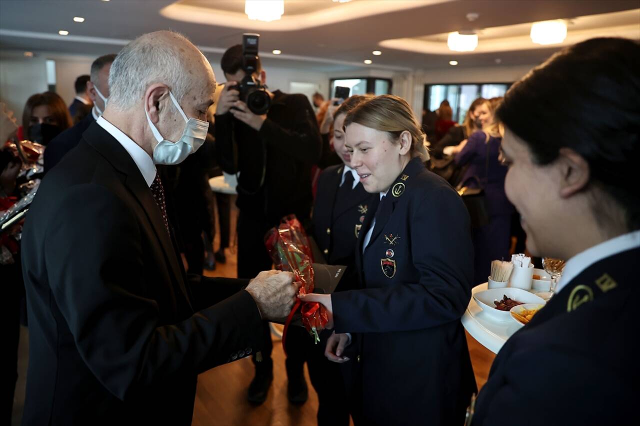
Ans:
[[[392,213],[379,218],[383,227],[364,255],[371,207],[360,232],[363,288],[332,295],[336,333],[353,333],[344,365],[351,366],[348,386],[362,404],[362,418],[354,419],[460,425],[476,390],[460,322],[473,276],[467,209],[419,159],[404,168],[385,202]]]

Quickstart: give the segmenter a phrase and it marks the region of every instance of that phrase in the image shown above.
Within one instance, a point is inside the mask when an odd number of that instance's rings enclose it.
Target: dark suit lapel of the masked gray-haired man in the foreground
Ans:
[[[92,123],[86,132],[84,132],[83,137],[86,142],[100,152],[116,170],[125,175],[125,186],[134,198],[138,200],[138,203],[140,203],[140,206],[144,210],[147,220],[163,248],[166,262],[170,265],[169,269],[173,272],[175,281],[179,284],[185,296],[187,296],[188,293],[184,285],[184,278],[178,264],[177,252],[173,248],[171,237],[164,227],[162,214],[156,201],[153,199],[147,182],[142,177],[140,169],[138,169],[131,155],[129,155],[127,150],[125,150],[109,132],[102,129],[97,123]]]

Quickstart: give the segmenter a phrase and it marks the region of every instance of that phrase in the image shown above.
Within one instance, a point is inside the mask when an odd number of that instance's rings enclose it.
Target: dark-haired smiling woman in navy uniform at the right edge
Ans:
[[[497,116],[527,249],[567,262],[556,295],[500,349],[472,425],[632,424],[640,46],[595,38],[564,49],[514,84]]]

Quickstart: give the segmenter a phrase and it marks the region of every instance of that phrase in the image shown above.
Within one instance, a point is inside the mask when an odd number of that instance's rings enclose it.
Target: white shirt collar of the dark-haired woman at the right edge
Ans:
[[[640,247],[640,231],[619,235],[593,247],[586,249],[567,260],[563,274],[556,285],[556,292],[577,277],[580,272],[595,264],[599,260],[617,255],[623,251]]]

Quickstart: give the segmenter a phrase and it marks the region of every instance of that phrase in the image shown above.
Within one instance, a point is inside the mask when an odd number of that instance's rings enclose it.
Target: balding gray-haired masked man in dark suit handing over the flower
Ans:
[[[208,279],[179,262],[156,164],[204,140],[216,82],[202,53],[170,31],[142,35],[109,86],[24,226],[24,425],[190,425],[197,375],[259,352],[262,320],[284,318],[297,292],[289,272]]]

